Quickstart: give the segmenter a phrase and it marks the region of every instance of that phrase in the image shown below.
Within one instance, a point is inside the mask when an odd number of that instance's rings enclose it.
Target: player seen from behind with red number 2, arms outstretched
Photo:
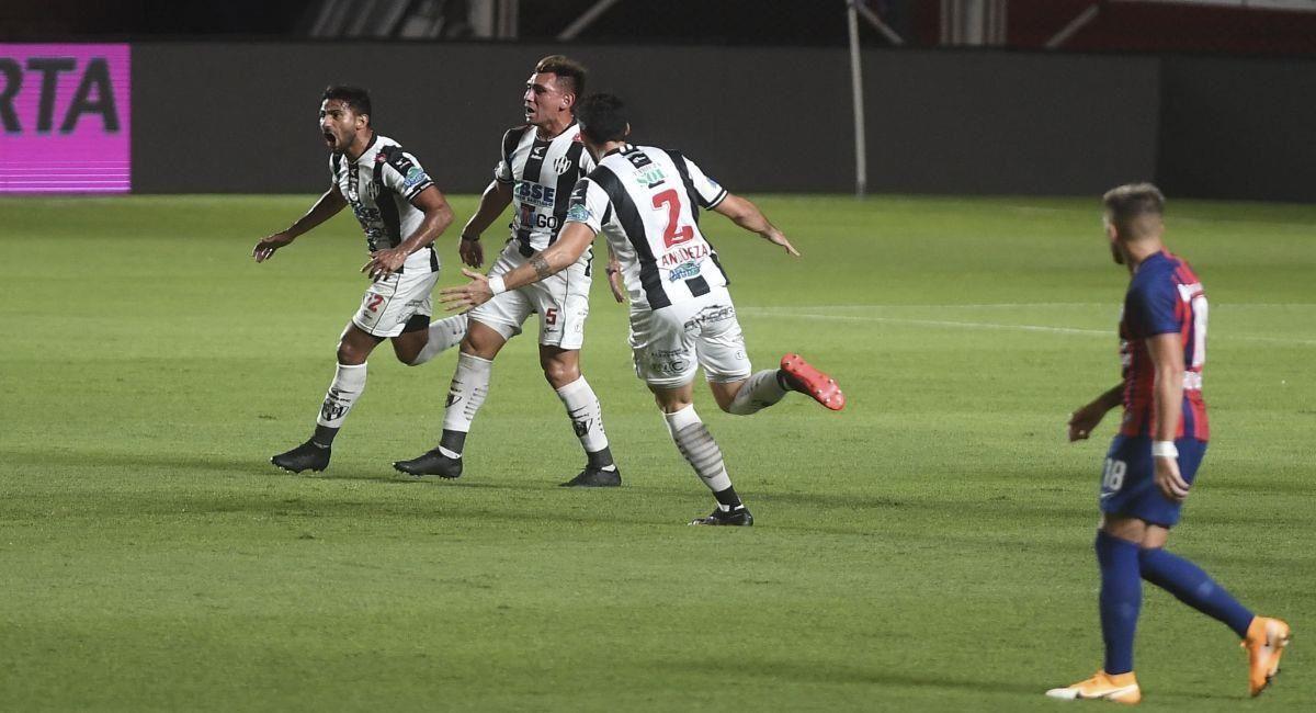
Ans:
[[[703,366],[717,405],[741,416],[776,404],[790,391],[833,410],[845,405],[845,396],[834,380],[796,354],[783,356],[780,368],[751,370],[726,274],[699,228],[699,210],[721,213],[786,253],[799,253],[753,203],[728,193],[690,159],[626,143],[630,125],[617,97],[591,96],[576,116],[599,167],[572,191],[562,235],[509,272],[486,279],[463,271],[472,282],[442,291],[441,299],[449,309],[480,305],[550,278],[575,264],[603,233],[630,293],[636,374],[654,393],[678,450],[717,500],[712,514],[691,525],[751,525],[754,518],[732,487],[721,449],[695,413],[695,371]]]

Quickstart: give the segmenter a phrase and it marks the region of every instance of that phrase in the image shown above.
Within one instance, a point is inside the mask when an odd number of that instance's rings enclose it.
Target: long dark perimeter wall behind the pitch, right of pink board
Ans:
[[[570,50],[632,105],[637,143],[679,149],[733,191],[849,192],[844,49],[453,43],[136,43],[141,193],[313,192],[316,111],[371,89],[376,129],[447,192],[478,192],[536,59]],[[865,50],[869,188],[1316,201],[1316,62]]]

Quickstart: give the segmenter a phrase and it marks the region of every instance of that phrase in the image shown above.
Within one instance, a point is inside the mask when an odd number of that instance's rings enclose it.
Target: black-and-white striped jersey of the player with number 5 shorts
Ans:
[[[580,126],[571,122],[549,141],[534,126],[503,134],[503,159],[494,179],[512,185],[512,239],[529,258],[558,239],[566,221],[571,188],[594,170],[594,159],[580,143]]]

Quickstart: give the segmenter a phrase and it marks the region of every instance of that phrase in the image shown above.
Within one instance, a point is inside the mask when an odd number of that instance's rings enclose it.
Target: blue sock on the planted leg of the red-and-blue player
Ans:
[[[1096,562],[1101,567],[1101,639],[1105,642],[1107,674],[1133,671],[1133,633],[1142,608],[1138,546],[1096,533]]]

